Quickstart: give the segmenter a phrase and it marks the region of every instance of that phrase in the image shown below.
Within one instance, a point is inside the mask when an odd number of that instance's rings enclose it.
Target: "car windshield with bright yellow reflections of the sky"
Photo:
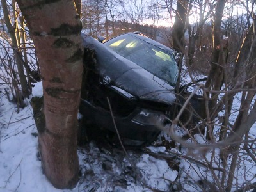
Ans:
[[[129,34],[117,36],[104,44],[124,58],[145,68],[154,76],[171,85],[177,83],[179,70],[171,52],[164,51]]]

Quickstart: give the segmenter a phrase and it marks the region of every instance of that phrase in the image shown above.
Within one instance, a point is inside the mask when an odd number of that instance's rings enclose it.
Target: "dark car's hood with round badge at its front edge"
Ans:
[[[101,84],[117,86],[138,99],[173,104],[176,99],[173,86],[120,56],[95,38],[85,35],[82,38],[84,54],[94,50],[93,63]]]

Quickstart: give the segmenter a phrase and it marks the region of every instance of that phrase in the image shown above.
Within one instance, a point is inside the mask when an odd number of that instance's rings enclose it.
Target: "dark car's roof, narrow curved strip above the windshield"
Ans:
[[[164,51],[172,52],[174,54],[177,53],[177,51],[175,51],[174,49],[172,49],[170,47],[167,47],[166,45],[163,45],[163,44],[161,44],[161,43],[159,43],[155,40],[152,40],[151,38],[149,38],[147,35],[141,33],[140,31],[122,33],[122,34],[117,35],[117,36],[122,36],[122,35],[125,35],[125,34],[134,36],[136,38],[140,38],[140,40],[143,40],[143,41],[147,42],[148,44],[152,44],[156,47],[159,47],[160,49],[163,49]],[[113,38],[115,38],[115,37],[113,37]],[[111,39],[113,39],[113,38],[111,38]],[[109,40],[111,40],[111,39],[109,39]]]

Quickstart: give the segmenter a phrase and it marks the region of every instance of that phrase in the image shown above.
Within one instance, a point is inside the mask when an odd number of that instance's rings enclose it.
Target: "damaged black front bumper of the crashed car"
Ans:
[[[153,122],[143,123],[135,118],[142,110],[141,108],[136,108],[126,117],[114,116],[116,128],[121,137],[140,141],[154,141],[156,139],[159,132],[161,132],[157,125]],[[92,124],[116,132],[112,115],[106,109],[94,106],[87,100],[81,99],[79,111]],[[159,112],[153,114],[159,114]],[[163,113],[161,113],[161,120],[164,117]]]

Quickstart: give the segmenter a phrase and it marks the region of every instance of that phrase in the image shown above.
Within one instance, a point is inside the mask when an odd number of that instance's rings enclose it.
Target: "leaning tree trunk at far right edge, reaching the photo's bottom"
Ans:
[[[236,122],[232,127],[232,131],[228,134],[227,139],[223,141],[223,143],[227,143],[228,145],[228,147],[223,148],[220,152],[223,162],[227,161],[228,154],[232,154],[232,163],[234,162],[234,164],[236,164],[237,151],[241,145],[241,141],[243,141],[243,136],[250,131],[250,128],[256,122],[256,102],[251,106],[252,100],[256,95],[255,40],[256,34],[254,20],[246,38],[244,39],[239,56],[237,57],[236,72],[234,74],[236,83],[240,83],[241,86],[248,88],[248,90],[243,91],[243,97]],[[243,66],[243,68],[241,68],[241,66]],[[245,140],[245,142],[246,141],[248,140]],[[228,174],[226,191],[231,191],[233,180],[234,168],[232,168],[231,172]]]

